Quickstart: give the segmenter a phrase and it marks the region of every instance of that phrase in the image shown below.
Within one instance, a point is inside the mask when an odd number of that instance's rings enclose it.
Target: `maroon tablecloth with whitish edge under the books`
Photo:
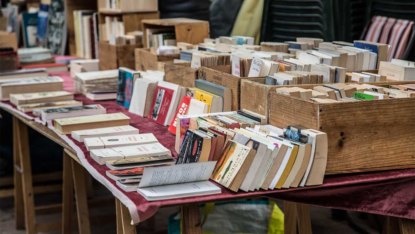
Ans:
[[[73,91],[73,80],[69,77],[69,73],[61,72],[57,75],[65,80],[64,89]],[[75,99],[83,101],[84,104],[100,103],[107,108],[107,113],[122,111],[131,117],[130,124],[139,128],[140,133],[153,133],[160,143],[176,155],[175,137],[167,131],[167,127],[129,113],[127,108],[117,105],[114,100],[94,102],[83,95],[76,95]],[[77,151],[78,157],[91,175],[129,208],[133,223],[148,219],[159,207],[166,205],[205,203],[212,200],[244,199],[255,196],[415,219],[415,169],[327,175],[324,183],[318,186],[256,192],[232,192],[217,184],[222,187],[222,194],[149,202],[137,192],[124,192],[117,187],[115,181],[105,175],[108,168],[105,165],[98,165],[90,158],[83,143],[73,140],[70,135],[61,135],[61,137]]]

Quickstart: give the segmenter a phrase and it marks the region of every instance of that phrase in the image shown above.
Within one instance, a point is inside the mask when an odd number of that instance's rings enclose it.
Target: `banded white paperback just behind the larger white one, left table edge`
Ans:
[[[84,138],[86,149],[103,149],[103,148],[115,148],[129,145],[142,145],[148,143],[157,143],[159,140],[153,135],[153,133],[142,133],[132,135],[112,135]]]

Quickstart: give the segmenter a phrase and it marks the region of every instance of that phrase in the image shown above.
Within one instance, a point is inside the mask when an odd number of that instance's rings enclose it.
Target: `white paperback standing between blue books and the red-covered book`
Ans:
[[[144,118],[147,117],[157,84],[158,81],[152,81],[146,78],[136,79],[128,112]]]

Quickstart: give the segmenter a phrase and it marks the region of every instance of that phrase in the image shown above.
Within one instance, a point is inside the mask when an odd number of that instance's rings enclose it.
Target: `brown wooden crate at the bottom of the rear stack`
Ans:
[[[143,47],[142,43],[127,45],[112,45],[107,41],[98,42],[100,70],[128,67],[134,69],[134,49]]]

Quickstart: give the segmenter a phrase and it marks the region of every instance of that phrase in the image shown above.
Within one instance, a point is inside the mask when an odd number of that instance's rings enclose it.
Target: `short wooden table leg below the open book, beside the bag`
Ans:
[[[200,210],[198,204],[182,206],[181,217],[183,234],[202,234],[202,227],[200,227]]]

